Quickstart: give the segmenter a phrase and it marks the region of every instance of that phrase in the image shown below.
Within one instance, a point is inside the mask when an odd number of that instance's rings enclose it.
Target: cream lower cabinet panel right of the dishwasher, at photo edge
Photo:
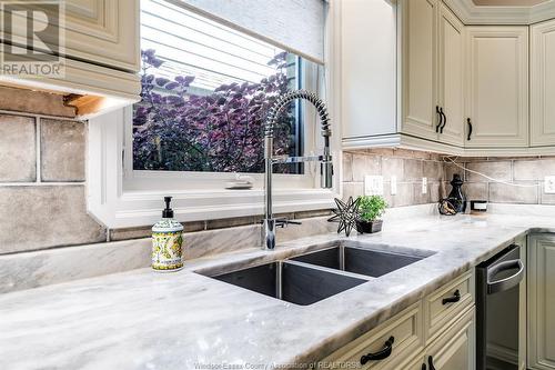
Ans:
[[[528,242],[528,368],[555,369],[555,236]]]

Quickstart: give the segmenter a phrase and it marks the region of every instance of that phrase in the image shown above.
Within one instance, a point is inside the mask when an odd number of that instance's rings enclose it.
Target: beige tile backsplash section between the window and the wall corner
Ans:
[[[355,150],[343,153],[343,198],[364,193],[365,176],[383,176],[384,198],[390,207],[436,202],[444,197],[445,171],[442,156],[405,149]],[[397,192],[391,192],[396,177]],[[422,193],[422,178],[427,192]]]

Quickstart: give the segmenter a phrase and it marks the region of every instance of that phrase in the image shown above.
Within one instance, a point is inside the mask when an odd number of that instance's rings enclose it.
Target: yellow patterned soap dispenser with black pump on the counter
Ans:
[[[152,227],[152,268],[157,271],[176,271],[183,268],[183,226],[173,219],[172,197],[164,197],[162,220]]]

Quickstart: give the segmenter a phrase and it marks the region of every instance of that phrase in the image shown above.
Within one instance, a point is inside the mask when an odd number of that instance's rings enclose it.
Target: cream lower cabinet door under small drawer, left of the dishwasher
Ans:
[[[474,307],[430,346],[424,361],[427,369],[474,370]]]

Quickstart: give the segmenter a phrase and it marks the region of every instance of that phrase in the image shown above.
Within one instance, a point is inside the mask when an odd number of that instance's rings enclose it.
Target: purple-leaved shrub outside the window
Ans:
[[[222,84],[208,96],[189,92],[193,76],[155,77],[164,61],[154,50],[143,50],[141,56],[142,101],[134,104],[133,114],[135,170],[264,171],[262,127],[269,108],[289,89],[286,52],[269,61],[275,73],[259,83]],[[275,128],[275,154],[294,153],[294,113],[289,109]]]

